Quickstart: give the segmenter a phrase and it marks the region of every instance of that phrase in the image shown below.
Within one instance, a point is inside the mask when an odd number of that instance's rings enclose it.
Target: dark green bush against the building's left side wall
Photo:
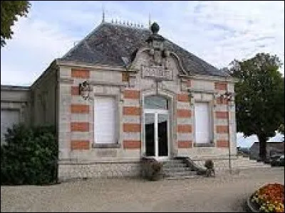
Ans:
[[[14,125],[1,146],[1,185],[41,185],[57,179],[58,143],[53,126]]]

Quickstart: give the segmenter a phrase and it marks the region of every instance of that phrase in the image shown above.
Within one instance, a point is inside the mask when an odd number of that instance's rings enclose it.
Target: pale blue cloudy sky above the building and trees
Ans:
[[[103,6],[106,21],[145,27],[150,13],[161,35],[218,68],[261,52],[284,63],[283,1],[31,1],[28,17],[19,18],[13,39],[1,48],[1,84],[32,84],[98,26]]]

